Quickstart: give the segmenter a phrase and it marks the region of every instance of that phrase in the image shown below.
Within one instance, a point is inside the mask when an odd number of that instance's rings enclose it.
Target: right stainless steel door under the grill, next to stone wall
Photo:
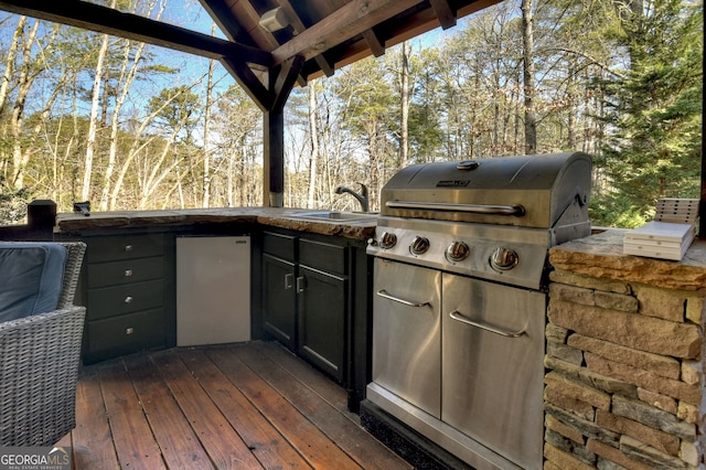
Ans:
[[[441,420],[524,469],[542,468],[538,291],[443,274]]]

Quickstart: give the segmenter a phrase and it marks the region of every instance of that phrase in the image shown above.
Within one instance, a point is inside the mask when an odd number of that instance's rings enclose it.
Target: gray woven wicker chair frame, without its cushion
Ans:
[[[85,307],[73,305],[86,245],[67,249],[57,309],[0,323],[0,445],[52,446],[76,426]]]

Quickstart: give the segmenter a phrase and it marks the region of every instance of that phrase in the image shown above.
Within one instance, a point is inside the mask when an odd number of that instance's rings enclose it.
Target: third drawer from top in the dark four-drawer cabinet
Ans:
[[[88,320],[163,307],[161,279],[88,290]]]

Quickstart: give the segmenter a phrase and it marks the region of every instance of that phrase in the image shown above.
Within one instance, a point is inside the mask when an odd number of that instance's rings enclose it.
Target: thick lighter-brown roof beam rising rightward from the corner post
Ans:
[[[306,60],[419,3],[419,0],[353,0],[272,51],[276,64],[295,55]]]

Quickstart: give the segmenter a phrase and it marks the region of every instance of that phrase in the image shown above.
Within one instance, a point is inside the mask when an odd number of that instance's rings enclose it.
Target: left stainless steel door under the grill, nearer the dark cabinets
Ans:
[[[375,258],[373,382],[441,412],[441,273]]]

